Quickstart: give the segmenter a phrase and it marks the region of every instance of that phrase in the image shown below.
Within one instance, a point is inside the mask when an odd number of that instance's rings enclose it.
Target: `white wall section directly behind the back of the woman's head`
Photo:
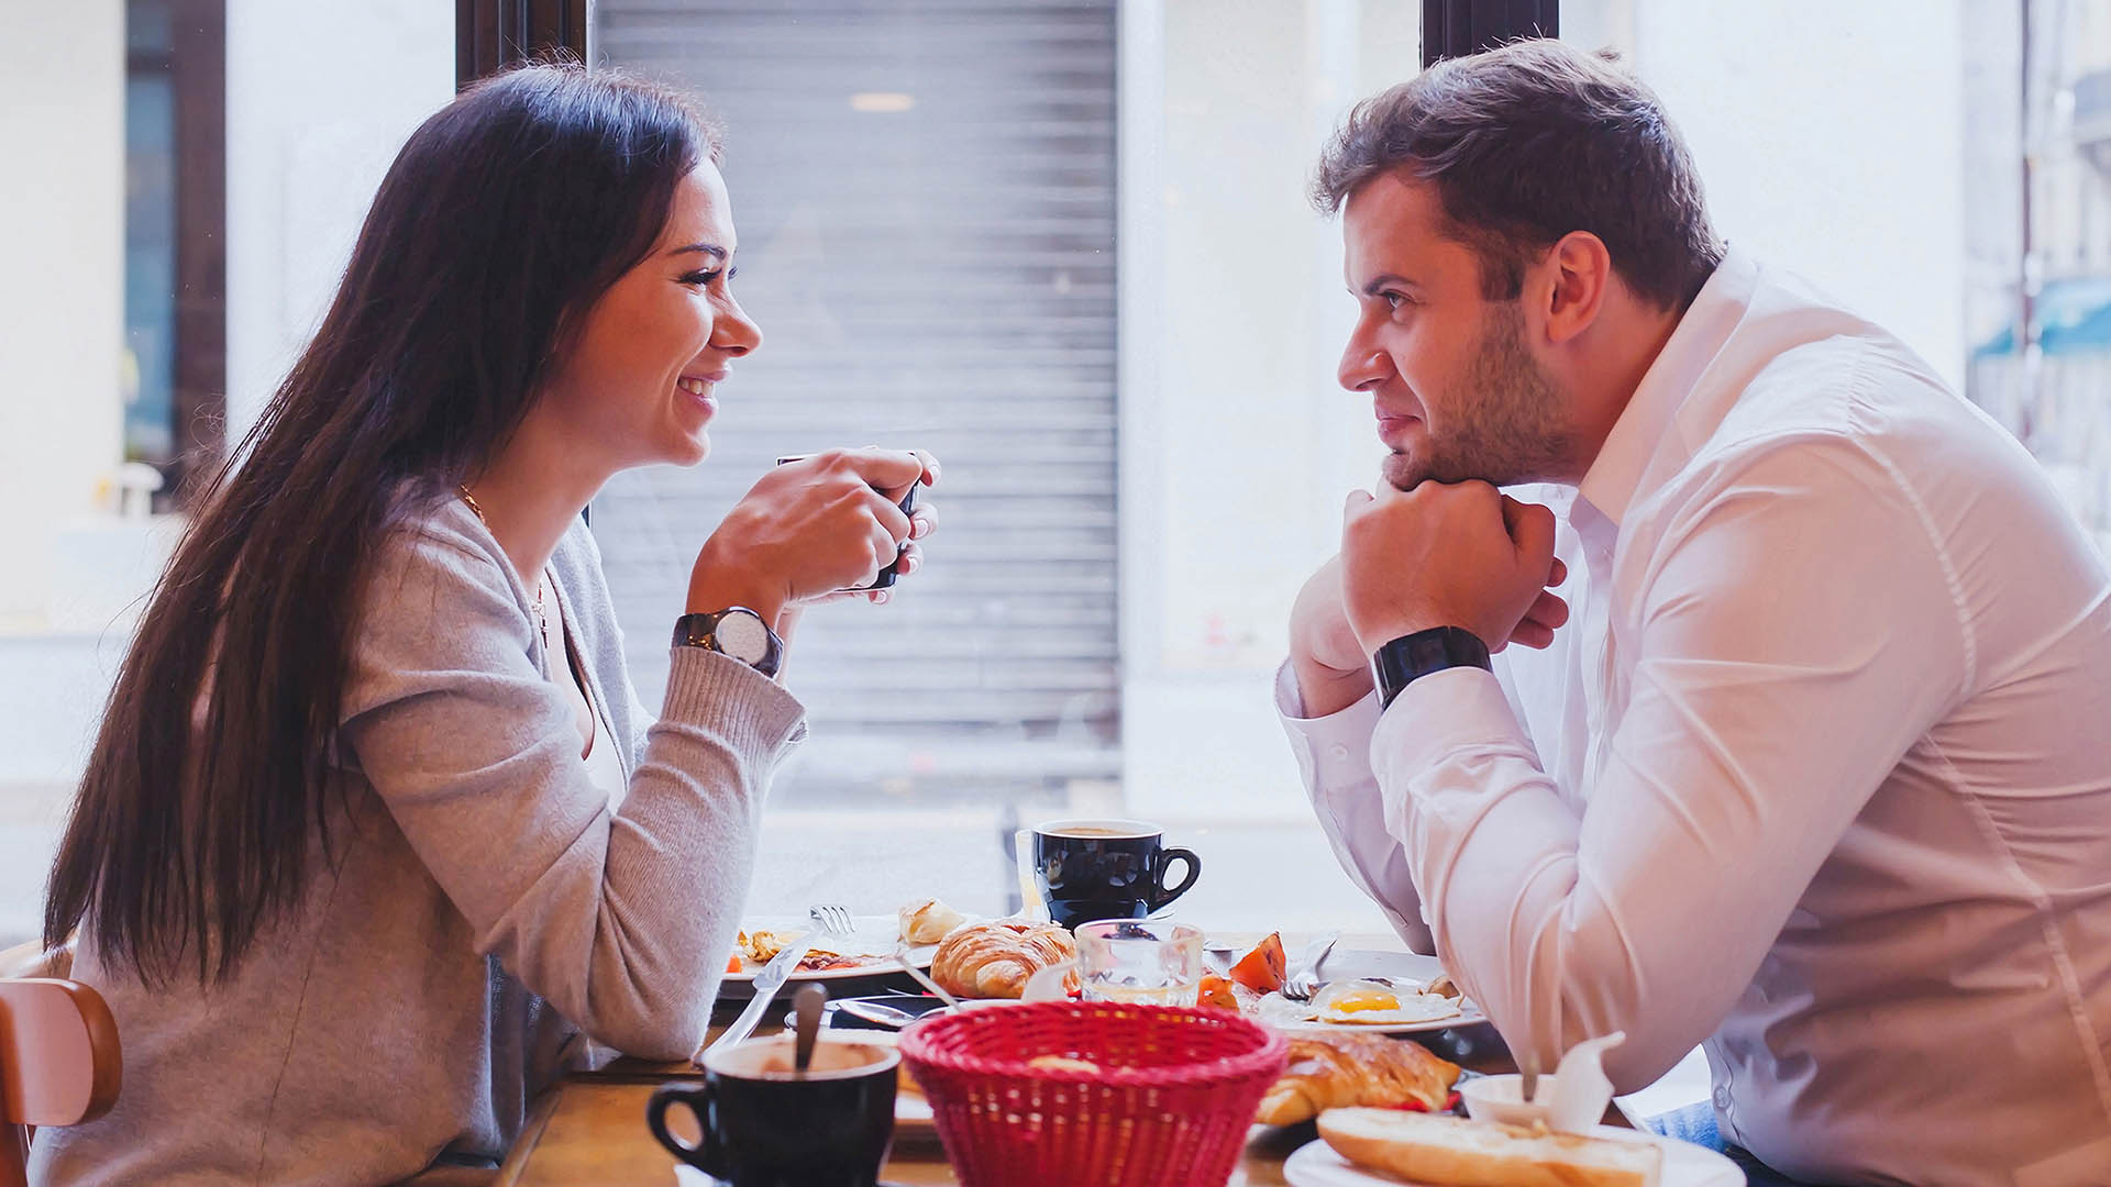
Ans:
[[[336,294],[403,139],[454,97],[454,4],[228,0],[228,439]]]

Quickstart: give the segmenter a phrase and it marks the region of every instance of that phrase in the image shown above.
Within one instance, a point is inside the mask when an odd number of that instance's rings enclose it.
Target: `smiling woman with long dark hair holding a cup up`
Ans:
[[[44,927],[80,929],[125,1090],[38,1136],[36,1181],[490,1166],[581,1031],[695,1048],[802,729],[762,627],[914,570],[929,511],[895,501],[937,477],[764,475],[697,555],[650,722],[581,507],[701,460],[760,344],[716,163],[676,95],[572,68],[410,137],[110,697]]]

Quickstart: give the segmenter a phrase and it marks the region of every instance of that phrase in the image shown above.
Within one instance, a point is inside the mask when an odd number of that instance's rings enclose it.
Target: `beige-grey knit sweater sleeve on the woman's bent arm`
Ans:
[[[800,703],[745,663],[676,648],[663,712],[610,811],[496,558],[401,532],[365,606],[342,735],[479,953],[602,1043],[688,1056]]]

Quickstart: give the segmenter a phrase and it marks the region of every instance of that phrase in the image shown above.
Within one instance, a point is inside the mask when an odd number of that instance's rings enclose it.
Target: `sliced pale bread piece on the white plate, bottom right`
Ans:
[[[1663,1151],[1448,1113],[1332,1109],[1319,1136],[1357,1166],[1429,1187],[1657,1187]]]

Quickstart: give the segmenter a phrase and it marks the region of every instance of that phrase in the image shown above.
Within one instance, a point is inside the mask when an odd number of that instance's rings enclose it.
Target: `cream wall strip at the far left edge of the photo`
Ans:
[[[6,0],[0,70],[0,632],[122,456],[125,4]]]

